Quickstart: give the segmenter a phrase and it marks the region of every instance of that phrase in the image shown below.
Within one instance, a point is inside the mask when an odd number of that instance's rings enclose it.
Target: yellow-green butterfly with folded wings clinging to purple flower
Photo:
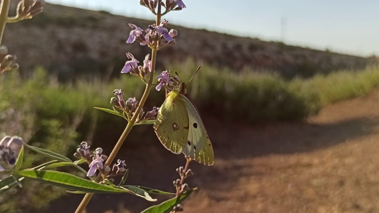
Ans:
[[[166,100],[158,110],[154,131],[166,149],[211,166],[215,155],[200,113],[186,92],[187,85],[181,80],[178,83],[176,88],[166,93]]]

